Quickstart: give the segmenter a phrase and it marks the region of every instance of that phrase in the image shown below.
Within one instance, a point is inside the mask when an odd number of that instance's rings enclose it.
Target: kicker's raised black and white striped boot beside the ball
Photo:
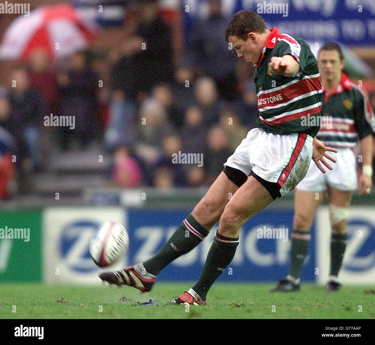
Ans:
[[[147,273],[142,264],[128,266],[118,271],[104,272],[99,275],[102,281],[110,284],[132,286],[142,292],[148,292],[156,282],[156,276]]]

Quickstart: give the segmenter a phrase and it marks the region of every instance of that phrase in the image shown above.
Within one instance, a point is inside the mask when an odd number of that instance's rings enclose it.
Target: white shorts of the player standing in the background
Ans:
[[[337,148],[337,153],[329,152],[336,159],[332,163],[332,170],[325,169],[323,174],[314,162],[310,164],[309,170],[303,180],[297,184],[296,189],[306,192],[323,192],[327,186],[339,190],[356,190],[357,182],[357,159],[351,148]]]

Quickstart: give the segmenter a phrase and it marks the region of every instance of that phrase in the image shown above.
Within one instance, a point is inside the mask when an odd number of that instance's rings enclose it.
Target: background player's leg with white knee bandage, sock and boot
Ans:
[[[339,190],[330,186],[328,188],[328,195],[332,235],[331,267],[327,290],[336,291],[340,287],[340,284],[337,282],[337,276],[342,265],[342,259],[346,248],[348,207],[353,193],[348,190]]]

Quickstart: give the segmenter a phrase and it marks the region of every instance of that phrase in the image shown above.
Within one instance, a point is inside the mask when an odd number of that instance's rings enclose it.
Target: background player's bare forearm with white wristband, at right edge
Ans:
[[[363,168],[358,187],[359,194],[364,195],[370,193],[372,187],[372,135],[365,136],[360,140],[359,146]]]

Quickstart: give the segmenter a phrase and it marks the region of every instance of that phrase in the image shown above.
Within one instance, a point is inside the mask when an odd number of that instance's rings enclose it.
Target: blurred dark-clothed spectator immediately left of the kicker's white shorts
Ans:
[[[208,150],[204,155],[203,167],[208,176],[208,184],[211,184],[222,171],[226,159],[233,152],[228,145],[228,135],[220,126],[214,126],[209,130],[207,147]]]

